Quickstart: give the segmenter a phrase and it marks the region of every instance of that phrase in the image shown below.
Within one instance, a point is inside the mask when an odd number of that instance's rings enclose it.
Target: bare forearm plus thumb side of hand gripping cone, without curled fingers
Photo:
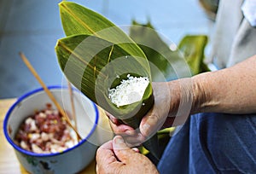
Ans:
[[[143,136],[182,125],[193,113],[256,113],[256,55],[217,72],[154,83],[153,89],[154,107],[140,125]]]

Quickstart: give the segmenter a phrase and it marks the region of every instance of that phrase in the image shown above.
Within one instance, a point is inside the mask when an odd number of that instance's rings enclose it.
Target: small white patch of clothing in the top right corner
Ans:
[[[241,5],[244,17],[252,26],[256,26],[256,0],[245,0]]]

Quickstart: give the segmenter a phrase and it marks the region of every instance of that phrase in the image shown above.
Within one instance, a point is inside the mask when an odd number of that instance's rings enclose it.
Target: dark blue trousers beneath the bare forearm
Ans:
[[[171,138],[161,173],[256,173],[256,115],[199,113]]]

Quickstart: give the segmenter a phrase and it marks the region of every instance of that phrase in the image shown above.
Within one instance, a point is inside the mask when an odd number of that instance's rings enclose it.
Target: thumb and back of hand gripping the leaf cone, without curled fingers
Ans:
[[[153,136],[160,129],[183,125],[193,105],[191,78],[153,83],[154,107],[143,117],[140,132]]]

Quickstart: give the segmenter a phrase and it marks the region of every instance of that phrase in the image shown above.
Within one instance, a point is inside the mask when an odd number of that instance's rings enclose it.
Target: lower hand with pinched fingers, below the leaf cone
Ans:
[[[115,136],[113,141],[106,142],[98,148],[96,172],[99,174],[159,173],[146,156],[128,148],[121,136]]]

